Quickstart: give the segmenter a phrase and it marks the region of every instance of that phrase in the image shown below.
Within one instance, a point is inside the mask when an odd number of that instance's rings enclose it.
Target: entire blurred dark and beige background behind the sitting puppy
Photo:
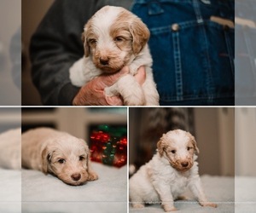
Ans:
[[[152,158],[163,133],[182,129],[195,135],[201,175],[235,176],[234,108],[131,107],[129,118],[129,159],[137,168]]]

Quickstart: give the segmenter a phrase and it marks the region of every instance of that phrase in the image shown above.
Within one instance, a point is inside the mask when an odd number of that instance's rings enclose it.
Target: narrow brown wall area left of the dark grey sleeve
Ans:
[[[41,105],[40,96],[31,80],[28,48],[32,33],[35,32],[53,2],[54,0],[22,0],[22,42],[26,55],[26,66],[22,71],[22,105]],[[30,91],[29,94],[27,91]]]

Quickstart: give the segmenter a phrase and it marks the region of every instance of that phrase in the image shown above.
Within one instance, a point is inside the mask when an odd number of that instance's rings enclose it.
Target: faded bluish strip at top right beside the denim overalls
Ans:
[[[235,102],[256,105],[256,4],[255,0],[235,3]]]

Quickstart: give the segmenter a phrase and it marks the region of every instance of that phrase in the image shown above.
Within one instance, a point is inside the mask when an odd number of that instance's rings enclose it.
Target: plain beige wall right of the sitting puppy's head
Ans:
[[[235,175],[234,108],[195,108],[201,174]]]

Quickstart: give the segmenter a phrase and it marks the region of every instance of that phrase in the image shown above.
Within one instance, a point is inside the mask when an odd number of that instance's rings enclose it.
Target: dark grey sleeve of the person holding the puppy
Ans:
[[[95,7],[90,0],[56,0],[33,34],[32,81],[44,105],[72,105],[79,92],[68,71],[84,55],[81,33]]]

